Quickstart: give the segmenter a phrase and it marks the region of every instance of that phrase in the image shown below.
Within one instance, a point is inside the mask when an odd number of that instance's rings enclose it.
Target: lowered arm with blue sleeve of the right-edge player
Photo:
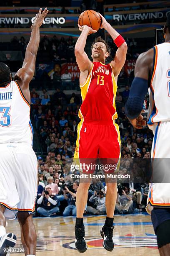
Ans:
[[[153,49],[146,51],[138,57],[135,64],[135,78],[130,87],[128,101],[125,104],[125,114],[135,128],[143,128],[146,122],[140,114],[143,102],[148,92],[148,78],[153,67]]]

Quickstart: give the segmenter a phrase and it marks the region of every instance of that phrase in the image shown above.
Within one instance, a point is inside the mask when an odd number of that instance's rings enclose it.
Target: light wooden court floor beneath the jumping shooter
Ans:
[[[84,218],[88,249],[84,256],[115,255],[144,256],[159,255],[157,241],[150,216],[147,214],[115,215],[113,237],[115,248],[112,252],[102,247],[100,228],[105,216],[88,216]],[[34,218],[37,230],[36,256],[78,256],[75,250],[73,217]],[[17,220],[7,221],[7,231],[14,232],[18,238],[15,247],[21,248],[20,227]],[[24,255],[13,253],[10,255]]]

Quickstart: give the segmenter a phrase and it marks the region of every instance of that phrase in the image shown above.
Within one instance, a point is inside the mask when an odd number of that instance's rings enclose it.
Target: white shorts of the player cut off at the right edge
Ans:
[[[148,192],[148,205],[146,210],[151,212],[153,207],[170,207],[170,169],[167,168],[168,159],[170,159],[170,122],[159,122],[154,131],[151,158],[153,158],[153,175],[155,170],[160,172],[160,181],[162,183],[150,184]],[[164,173],[163,170],[166,172]],[[162,169],[162,173],[161,173]],[[164,173],[164,174],[163,174]],[[163,177],[163,175],[167,176]],[[164,183],[166,182],[167,183]],[[152,207],[151,207],[152,206]]]

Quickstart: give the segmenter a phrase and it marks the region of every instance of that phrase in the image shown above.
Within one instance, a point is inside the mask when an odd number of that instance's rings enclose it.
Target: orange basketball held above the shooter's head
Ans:
[[[101,17],[94,10],[85,10],[83,13],[80,14],[78,18],[78,24],[80,26],[87,25],[93,30],[99,30],[101,24]]]

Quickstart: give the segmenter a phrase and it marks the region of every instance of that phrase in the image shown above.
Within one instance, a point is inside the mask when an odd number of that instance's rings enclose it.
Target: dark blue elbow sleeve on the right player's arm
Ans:
[[[128,118],[134,119],[140,115],[147,92],[148,80],[135,77],[130,87],[128,100],[125,104],[125,114]]]

